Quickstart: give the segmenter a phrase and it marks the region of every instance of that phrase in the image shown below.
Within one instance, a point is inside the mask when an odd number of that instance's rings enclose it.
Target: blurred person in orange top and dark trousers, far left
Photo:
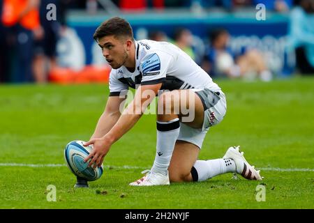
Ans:
[[[1,22],[5,26],[6,45],[11,70],[7,70],[13,82],[31,82],[33,40],[43,35],[40,26],[39,0],[4,0]],[[14,55],[10,55],[14,54]]]

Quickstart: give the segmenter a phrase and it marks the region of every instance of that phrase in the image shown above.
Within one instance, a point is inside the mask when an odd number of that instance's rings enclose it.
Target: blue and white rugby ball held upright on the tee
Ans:
[[[64,150],[64,158],[70,171],[75,176],[84,178],[88,181],[94,181],[100,178],[103,174],[103,165],[101,167],[87,167],[89,162],[84,162],[84,159],[91,153],[93,146],[83,146],[84,141],[70,141]]]

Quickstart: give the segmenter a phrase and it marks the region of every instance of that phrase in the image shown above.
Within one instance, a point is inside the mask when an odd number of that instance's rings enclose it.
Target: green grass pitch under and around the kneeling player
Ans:
[[[154,162],[156,116],[144,115],[112,146],[103,176],[75,189],[63,149],[94,132],[107,86],[2,85],[0,208],[314,208],[314,78],[217,83],[227,114],[209,130],[200,159],[241,145],[248,162],[262,168],[262,182],[224,174],[202,183],[130,187]],[[266,200],[257,202],[260,184]],[[55,202],[47,201],[48,185],[56,187]]]

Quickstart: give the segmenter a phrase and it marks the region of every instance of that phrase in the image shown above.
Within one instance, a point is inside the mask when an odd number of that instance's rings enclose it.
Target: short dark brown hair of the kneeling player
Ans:
[[[93,38],[98,41],[104,36],[114,36],[115,38],[128,37],[134,40],[132,27],[126,20],[120,17],[113,17],[103,22],[96,29]]]

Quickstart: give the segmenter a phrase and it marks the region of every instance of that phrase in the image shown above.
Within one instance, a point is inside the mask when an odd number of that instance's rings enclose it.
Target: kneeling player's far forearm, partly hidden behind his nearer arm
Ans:
[[[91,136],[91,139],[97,139],[103,137],[107,132],[109,132],[112,127],[117,123],[120,117],[120,112],[114,113],[103,113],[96,125],[94,134]]]

